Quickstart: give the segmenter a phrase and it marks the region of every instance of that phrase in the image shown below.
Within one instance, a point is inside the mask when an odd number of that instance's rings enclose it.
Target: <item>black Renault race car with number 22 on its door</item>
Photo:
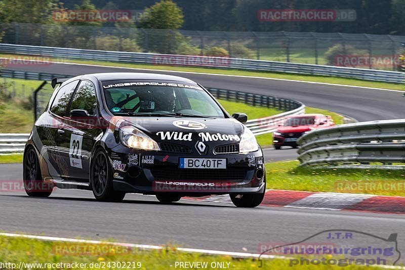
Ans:
[[[204,87],[151,73],[98,73],[52,81],[55,91],[24,151],[24,187],[92,190],[100,201],[126,193],[181,197],[229,194],[258,206],[263,152],[242,123]]]

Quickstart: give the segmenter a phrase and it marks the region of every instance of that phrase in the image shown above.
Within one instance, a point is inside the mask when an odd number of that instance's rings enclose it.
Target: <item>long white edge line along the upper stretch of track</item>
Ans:
[[[0,59],[5,59],[5,58],[0,57]],[[7,59],[18,59],[18,58],[7,58]],[[39,60],[30,60],[30,61],[31,62],[43,62],[43,61],[39,61]],[[363,88],[363,89],[373,89],[373,90],[382,90],[382,91],[392,91],[392,92],[404,93],[404,91],[400,91],[400,90],[384,89],[384,88],[377,88],[377,87],[341,85],[341,84],[330,84],[330,83],[320,83],[320,82],[308,82],[308,81],[299,81],[299,80],[290,80],[290,79],[267,78],[267,77],[260,77],[260,76],[216,74],[216,73],[206,73],[206,72],[178,71],[178,70],[152,69],[152,68],[136,68],[136,67],[124,67],[124,66],[108,66],[108,65],[95,65],[95,64],[80,64],[80,63],[53,62],[53,61],[47,61],[47,63],[64,64],[64,65],[80,65],[80,66],[112,67],[112,68],[120,68],[120,69],[134,69],[134,70],[148,70],[148,71],[177,72],[177,73],[189,73],[189,74],[203,74],[203,75],[227,76],[227,77],[238,77],[238,78],[265,79],[265,80],[274,80],[274,81],[287,81],[287,82],[318,84],[318,85],[343,86],[343,87],[351,87],[351,88]],[[296,74],[299,74],[299,73],[292,73],[292,74],[296,75]]]

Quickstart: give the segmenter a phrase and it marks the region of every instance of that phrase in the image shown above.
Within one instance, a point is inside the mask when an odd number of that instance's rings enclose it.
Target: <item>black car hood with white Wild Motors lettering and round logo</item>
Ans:
[[[227,144],[238,142],[244,125],[233,118],[124,117],[158,142]]]

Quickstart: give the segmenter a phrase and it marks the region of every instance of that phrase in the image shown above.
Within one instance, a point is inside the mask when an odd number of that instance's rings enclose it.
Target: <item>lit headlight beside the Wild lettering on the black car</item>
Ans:
[[[159,151],[160,147],[148,135],[132,126],[119,128],[119,139],[130,148]]]

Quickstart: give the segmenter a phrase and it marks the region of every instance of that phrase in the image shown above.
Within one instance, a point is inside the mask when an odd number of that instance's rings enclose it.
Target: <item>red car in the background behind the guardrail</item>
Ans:
[[[273,132],[274,148],[280,149],[281,146],[297,148],[297,139],[304,133],[334,125],[335,123],[329,115],[318,113],[291,115]]]

